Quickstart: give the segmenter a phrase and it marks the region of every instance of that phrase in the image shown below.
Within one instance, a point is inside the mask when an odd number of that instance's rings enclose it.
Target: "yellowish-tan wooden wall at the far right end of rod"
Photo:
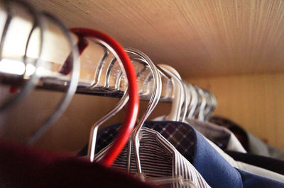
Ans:
[[[187,81],[217,96],[215,114],[234,120],[245,129],[284,149],[284,74],[257,74]]]

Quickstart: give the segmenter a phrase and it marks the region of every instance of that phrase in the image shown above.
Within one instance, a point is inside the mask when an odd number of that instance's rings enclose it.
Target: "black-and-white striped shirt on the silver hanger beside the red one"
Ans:
[[[117,127],[116,127],[117,128]],[[114,129],[116,129],[114,128]],[[195,187],[209,187],[199,172],[192,164],[183,157],[173,145],[161,136],[157,131],[142,128],[139,132],[140,147],[139,153],[141,158],[141,168],[146,177],[178,177],[181,176],[187,182],[192,182]],[[104,156],[108,148],[102,149],[96,157],[98,160]],[[114,161],[113,167],[126,170],[127,146]],[[131,173],[135,174],[136,160],[134,153],[131,155]],[[186,183],[186,182],[185,182]],[[190,187],[175,182],[172,187]]]

